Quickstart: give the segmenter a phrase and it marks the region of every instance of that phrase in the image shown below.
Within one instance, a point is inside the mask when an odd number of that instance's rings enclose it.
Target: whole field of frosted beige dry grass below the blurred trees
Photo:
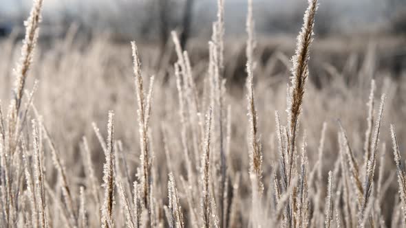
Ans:
[[[251,7],[224,39],[219,0],[160,54],[41,41],[42,3],[0,41],[0,227],[406,226],[405,37],[318,38],[310,0],[297,40]]]

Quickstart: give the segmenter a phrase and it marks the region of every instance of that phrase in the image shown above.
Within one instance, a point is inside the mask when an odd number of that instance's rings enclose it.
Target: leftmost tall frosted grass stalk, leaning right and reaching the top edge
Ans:
[[[15,82],[13,89],[13,98],[10,100],[6,122],[1,111],[1,146],[0,146],[0,166],[1,166],[1,204],[3,205],[3,215],[1,220],[8,227],[17,224],[17,211],[19,207],[18,198],[20,179],[14,180],[14,175],[19,174],[19,165],[14,166],[14,162],[20,159],[15,155],[17,144],[20,137],[20,126],[25,122],[25,115],[20,115],[21,100],[23,97],[25,79],[34,56],[34,49],[39,36],[39,23],[41,21],[41,10],[43,1],[36,0],[32,6],[30,16],[25,21],[25,38],[21,47],[21,58],[14,71]],[[23,121],[21,121],[21,117]],[[16,188],[17,187],[17,188]],[[46,219],[45,219],[46,220]],[[41,220],[42,221],[42,220]]]

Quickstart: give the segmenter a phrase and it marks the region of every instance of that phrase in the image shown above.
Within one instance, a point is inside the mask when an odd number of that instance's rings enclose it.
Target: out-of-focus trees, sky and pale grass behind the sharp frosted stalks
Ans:
[[[247,3],[224,3],[223,77],[226,98],[236,115],[233,124],[239,126],[246,121]],[[377,84],[376,97],[387,93],[391,100],[387,118],[394,124],[406,120],[406,1],[319,0],[319,4],[303,128],[317,135],[324,120],[336,126],[335,120],[340,118],[344,125],[352,127],[354,144],[362,148],[365,102],[372,78]],[[255,86],[261,126],[267,126],[261,128],[264,137],[275,130],[275,110],[286,109],[290,56],[295,52],[307,5],[307,0],[253,0],[257,33]],[[32,0],[0,0],[1,100],[10,98],[12,69],[20,56],[23,21],[31,6]],[[83,135],[94,135],[90,123],[105,126],[106,113],[111,109],[120,119],[116,122],[117,137],[124,142],[136,138],[137,128],[128,127],[136,113],[129,45],[133,40],[138,43],[144,76],[156,76],[153,118],[167,121],[174,126],[173,135],[177,134],[178,111],[171,112],[178,106],[173,73],[177,56],[171,31],[178,33],[187,50],[197,89],[204,94],[208,41],[213,21],[217,20],[216,0],[44,0],[43,6],[39,46],[28,88],[34,79],[40,80],[35,103],[60,146],[77,152]],[[354,107],[361,108],[354,111]],[[312,121],[314,116],[319,121]],[[160,134],[161,124],[155,127]],[[245,145],[245,128],[236,129],[233,147],[240,150]],[[335,128],[331,131],[331,141],[336,141]],[[398,135],[406,137],[406,128]],[[390,141],[388,134],[386,137]],[[91,139],[98,147],[97,139]],[[313,139],[309,145],[317,148],[318,137]]]

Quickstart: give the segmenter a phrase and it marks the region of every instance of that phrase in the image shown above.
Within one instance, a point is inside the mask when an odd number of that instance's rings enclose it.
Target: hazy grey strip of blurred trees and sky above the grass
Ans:
[[[306,0],[254,0],[257,32],[261,35],[296,34]],[[404,0],[321,0],[318,36],[404,34]],[[0,0],[0,36],[22,31],[30,0]],[[226,34],[244,34],[245,0],[226,0]],[[190,37],[211,35],[217,3],[214,0],[47,0],[43,36],[63,36],[72,23],[83,34],[108,32],[112,38],[145,38],[162,42],[167,31],[178,28]],[[186,38],[186,39],[187,39]]]

